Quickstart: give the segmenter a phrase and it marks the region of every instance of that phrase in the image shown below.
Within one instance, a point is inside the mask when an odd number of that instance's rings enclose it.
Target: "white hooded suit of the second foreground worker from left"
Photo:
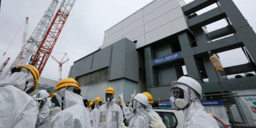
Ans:
[[[82,96],[67,91],[66,88],[54,92],[60,105],[61,98],[64,97],[64,110],[52,117],[49,128],[93,128],[93,121],[89,117],[89,111],[84,106]]]

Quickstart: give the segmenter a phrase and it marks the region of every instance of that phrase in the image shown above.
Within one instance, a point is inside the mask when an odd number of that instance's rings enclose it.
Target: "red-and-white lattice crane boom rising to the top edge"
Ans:
[[[46,65],[75,1],[76,0],[63,0],[46,32],[46,35],[43,37],[35,56],[33,57],[30,65],[35,66],[38,69],[39,74],[42,73],[43,68]]]

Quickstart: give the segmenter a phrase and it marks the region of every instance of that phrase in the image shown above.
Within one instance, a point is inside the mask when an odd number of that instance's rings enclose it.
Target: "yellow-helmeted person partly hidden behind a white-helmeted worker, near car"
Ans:
[[[152,108],[152,103],[153,103],[152,95],[148,92],[143,92],[142,94],[146,95],[147,98],[148,98],[148,106],[147,106],[147,109],[146,109],[148,120],[151,121],[151,118],[154,115],[154,116],[158,117],[159,119],[161,119],[163,121],[163,119]]]

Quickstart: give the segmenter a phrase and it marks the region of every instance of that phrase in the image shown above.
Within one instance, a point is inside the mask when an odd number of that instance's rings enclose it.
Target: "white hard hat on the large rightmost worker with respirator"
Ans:
[[[200,83],[197,82],[195,79],[187,77],[187,76],[182,76],[177,81],[171,82],[171,88],[175,87],[176,83],[184,84],[184,85],[191,87],[194,91],[196,91],[200,95],[199,99],[202,98],[202,87],[201,87]]]

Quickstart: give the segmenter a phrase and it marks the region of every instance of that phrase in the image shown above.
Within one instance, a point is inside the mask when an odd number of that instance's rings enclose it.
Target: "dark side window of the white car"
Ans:
[[[174,113],[171,112],[156,112],[163,119],[166,128],[176,128],[178,125],[177,118]]]

